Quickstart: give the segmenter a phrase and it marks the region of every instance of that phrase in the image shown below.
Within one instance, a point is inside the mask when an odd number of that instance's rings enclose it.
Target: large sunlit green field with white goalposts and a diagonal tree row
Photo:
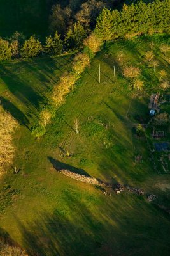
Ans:
[[[144,52],[150,40],[160,66],[148,67]],[[1,64],[1,102],[20,122],[15,134],[17,155],[13,166],[20,172],[3,177],[0,227],[30,255],[169,255],[169,215],[145,197],[122,193],[104,196],[101,189],[57,173],[67,168],[111,182],[124,183],[159,195],[159,205],[169,207],[168,175],[153,169],[145,138],[134,134],[134,125],[148,122],[148,100],[159,85],[158,71],[168,72],[168,63],[158,42],[165,36],[118,41],[104,47],[48,125],[39,140],[30,128],[38,120],[38,109],[71,56],[40,58]],[[117,52],[125,62],[138,65],[145,79],[143,97],[134,97],[122,76]],[[112,76],[116,84],[102,79]],[[74,119],[80,123],[74,131]],[[73,156],[68,158],[66,152]],[[134,161],[143,157],[142,163]]]

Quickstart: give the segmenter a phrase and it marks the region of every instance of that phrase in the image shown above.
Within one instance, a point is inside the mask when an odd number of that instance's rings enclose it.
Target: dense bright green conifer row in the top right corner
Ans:
[[[118,37],[131,38],[142,33],[162,33],[169,31],[170,5],[169,0],[155,0],[152,3],[139,1],[122,10],[104,8],[97,17],[96,34],[103,40]]]

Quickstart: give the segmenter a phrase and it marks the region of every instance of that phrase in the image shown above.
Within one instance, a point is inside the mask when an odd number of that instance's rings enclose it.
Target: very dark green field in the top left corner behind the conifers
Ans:
[[[1,0],[0,35],[10,37],[15,31],[19,31],[26,36],[46,36],[50,10],[50,1],[46,0]]]

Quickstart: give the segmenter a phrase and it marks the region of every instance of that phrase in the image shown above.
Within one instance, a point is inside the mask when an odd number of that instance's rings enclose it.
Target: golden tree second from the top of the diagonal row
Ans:
[[[90,58],[85,53],[78,53],[76,54],[74,58],[73,68],[76,71],[76,73],[81,74],[85,67],[90,65]]]

